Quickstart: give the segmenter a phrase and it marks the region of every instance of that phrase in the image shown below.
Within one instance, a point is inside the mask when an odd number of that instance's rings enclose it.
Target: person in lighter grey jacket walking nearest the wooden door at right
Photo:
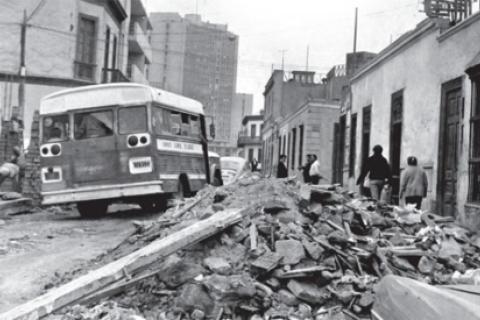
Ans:
[[[400,199],[405,197],[405,204],[415,204],[415,208],[422,208],[422,199],[427,196],[428,179],[422,168],[418,167],[416,157],[407,158],[408,167],[400,178]]]

